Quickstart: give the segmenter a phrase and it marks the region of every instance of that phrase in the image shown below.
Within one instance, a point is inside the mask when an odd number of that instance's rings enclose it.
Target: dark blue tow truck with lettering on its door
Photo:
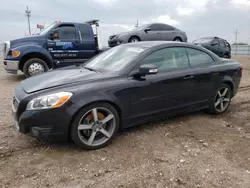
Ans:
[[[92,26],[96,26],[93,30]],[[98,20],[85,23],[54,22],[39,35],[4,43],[7,73],[21,70],[27,77],[50,69],[80,64],[98,54]]]

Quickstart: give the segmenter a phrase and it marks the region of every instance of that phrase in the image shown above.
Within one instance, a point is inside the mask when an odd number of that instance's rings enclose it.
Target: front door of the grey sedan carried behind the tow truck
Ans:
[[[157,41],[162,40],[162,28],[161,24],[152,24],[149,26],[150,31],[143,31],[142,38],[144,41]]]

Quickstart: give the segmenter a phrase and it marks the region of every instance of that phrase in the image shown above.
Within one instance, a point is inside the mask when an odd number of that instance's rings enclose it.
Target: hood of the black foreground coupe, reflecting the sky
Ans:
[[[110,73],[99,73],[75,66],[57,69],[27,78],[22,81],[20,85],[26,93],[33,93],[71,83],[103,80],[109,77],[112,77]]]

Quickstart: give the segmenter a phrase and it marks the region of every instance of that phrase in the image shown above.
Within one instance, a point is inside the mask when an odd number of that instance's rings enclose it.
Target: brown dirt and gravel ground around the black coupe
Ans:
[[[250,85],[250,58],[241,87]],[[0,187],[250,187],[250,90],[228,112],[203,112],[136,126],[106,148],[43,143],[13,128],[13,88],[24,79],[0,66]]]

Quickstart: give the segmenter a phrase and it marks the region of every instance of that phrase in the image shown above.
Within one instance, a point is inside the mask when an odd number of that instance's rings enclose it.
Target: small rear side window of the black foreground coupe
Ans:
[[[192,67],[204,65],[204,64],[211,64],[214,61],[210,55],[200,50],[187,48],[187,53],[188,53],[190,65]]]

